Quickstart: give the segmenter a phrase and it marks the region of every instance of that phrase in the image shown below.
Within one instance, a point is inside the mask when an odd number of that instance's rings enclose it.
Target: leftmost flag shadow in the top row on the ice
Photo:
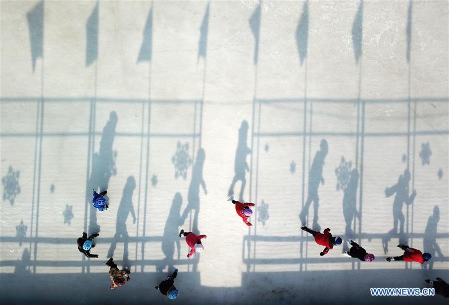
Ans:
[[[36,59],[43,58],[43,1],[37,3],[26,14],[29,29],[29,44],[31,47],[31,61],[33,72]]]

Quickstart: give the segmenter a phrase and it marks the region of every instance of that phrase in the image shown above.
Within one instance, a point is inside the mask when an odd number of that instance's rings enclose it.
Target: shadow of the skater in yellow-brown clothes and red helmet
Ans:
[[[115,225],[115,235],[112,240],[111,247],[109,248],[107,257],[112,257],[114,255],[114,250],[119,241],[123,241],[123,266],[126,269],[129,269],[128,262],[128,240],[129,235],[126,229],[126,220],[128,219],[128,215],[131,212],[131,216],[133,217],[133,224],[136,223],[136,214],[134,213],[133,206],[133,192],[136,188],[136,180],[133,176],[129,176],[126,180],[125,188],[123,189],[122,200],[120,201],[120,205],[117,211],[117,223]],[[122,239],[120,239],[122,237]]]

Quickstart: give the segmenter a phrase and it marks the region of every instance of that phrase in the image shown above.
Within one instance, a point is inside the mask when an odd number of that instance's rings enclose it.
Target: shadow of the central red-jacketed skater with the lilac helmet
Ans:
[[[244,202],[243,200],[243,192],[245,191],[246,179],[245,174],[246,171],[249,172],[248,163],[246,163],[246,155],[251,153],[251,149],[249,149],[247,145],[248,140],[248,122],[243,120],[240,125],[240,129],[238,129],[238,144],[237,149],[235,151],[235,163],[234,163],[234,178],[232,179],[232,183],[229,187],[229,191],[227,192],[227,196],[234,195],[234,185],[237,181],[241,180],[240,194],[238,195],[238,201]]]

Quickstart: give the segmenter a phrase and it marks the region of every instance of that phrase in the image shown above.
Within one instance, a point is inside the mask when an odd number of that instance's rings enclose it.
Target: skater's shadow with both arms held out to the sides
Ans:
[[[399,176],[398,183],[391,188],[385,188],[385,197],[390,197],[396,193],[395,200],[393,202],[393,229],[391,233],[396,234],[398,232],[398,222],[401,223],[399,233],[404,233],[404,214],[402,214],[402,206],[404,203],[410,205],[413,203],[416,197],[416,191],[413,190],[409,197],[409,182],[410,171],[406,169],[404,175]]]

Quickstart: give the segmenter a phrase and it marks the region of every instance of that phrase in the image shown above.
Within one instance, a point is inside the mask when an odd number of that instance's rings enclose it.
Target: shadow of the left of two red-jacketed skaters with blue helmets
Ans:
[[[309,215],[309,207],[313,201],[313,224],[312,229],[314,231],[320,231],[321,227],[318,225],[318,206],[319,200],[318,197],[318,187],[321,184],[324,184],[323,178],[323,166],[324,166],[324,158],[326,158],[328,152],[327,141],[325,139],[321,140],[320,150],[316,152],[315,157],[313,158],[312,166],[309,171],[309,184],[308,184],[308,195],[307,201],[304,204],[304,207],[299,213],[299,219],[301,220],[301,224],[305,226],[306,216]]]

